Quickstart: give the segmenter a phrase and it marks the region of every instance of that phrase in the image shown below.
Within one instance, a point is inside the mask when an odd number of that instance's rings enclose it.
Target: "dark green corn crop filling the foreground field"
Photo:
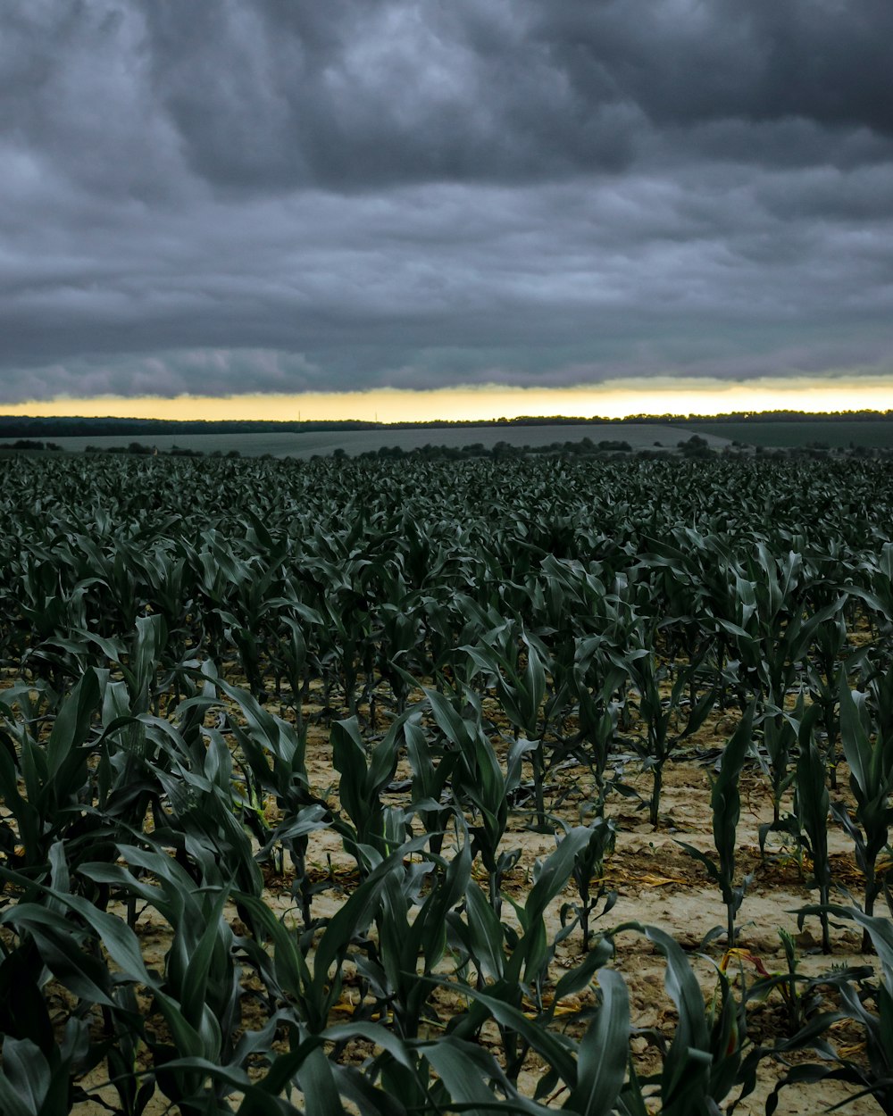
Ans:
[[[893,1112],[889,464],[0,470],[0,1113],[689,1116],[769,1062],[769,1110],[833,1078]],[[705,997],[672,927],[612,922],[605,860],[717,711]],[[746,964],[743,771],[808,868],[820,978],[790,935]],[[551,844],[522,894],[519,822]],[[842,925],[864,965],[834,966]],[[669,1033],[631,1020],[631,934]]]

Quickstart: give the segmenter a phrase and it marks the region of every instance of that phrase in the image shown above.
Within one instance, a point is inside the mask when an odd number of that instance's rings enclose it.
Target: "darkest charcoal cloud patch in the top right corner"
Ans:
[[[886,0],[544,6],[537,36],[578,96],[656,124],[781,121],[893,134]]]

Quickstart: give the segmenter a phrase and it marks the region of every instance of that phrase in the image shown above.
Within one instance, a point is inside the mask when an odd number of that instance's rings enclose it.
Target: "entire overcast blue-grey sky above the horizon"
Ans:
[[[891,74],[891,0],[3,0],[0,406],[893,407]]]

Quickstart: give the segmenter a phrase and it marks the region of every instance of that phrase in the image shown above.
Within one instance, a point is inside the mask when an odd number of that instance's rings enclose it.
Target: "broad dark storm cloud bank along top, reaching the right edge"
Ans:
[[[871,157],[893,138],[889,0],[144,10],[156,95],[220,185],[618,172],[668,128],[748,162],[778,158],[766,125],[791,121],[787,158],[858,158],[853,132]]]

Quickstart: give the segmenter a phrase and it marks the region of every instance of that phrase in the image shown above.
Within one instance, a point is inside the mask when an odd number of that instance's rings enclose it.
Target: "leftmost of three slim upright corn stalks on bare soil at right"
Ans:
[[[753,734],[753,705],[751,704],[741,723],[729,739],[720,760],[719,775],[713,780],[710,807],[713,814],[713,845],[717,860],[684,841],[676,841],[699,864],[707,868],[710,878],[719,886],[726,904],[728,947],[734,945],[734,918],[745,898],[748,877],[736,884],[734,860],[738,821],[741,817],[741,796],[738,782]]]

